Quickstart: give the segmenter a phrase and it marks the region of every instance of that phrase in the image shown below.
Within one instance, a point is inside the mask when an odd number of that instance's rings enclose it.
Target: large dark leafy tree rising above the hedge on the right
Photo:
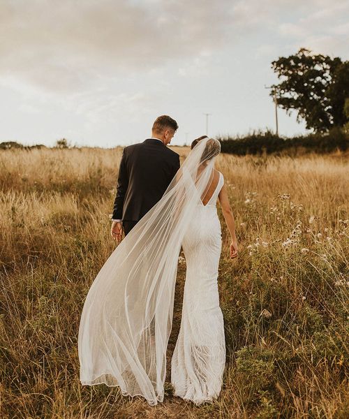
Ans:
[[[304,119],[307,129],[320,133],[348,122],[344,104],[349,98],[349,61],[300,48],[295,55],[272,61],[272,68],[281,82],[272,85],[270,95],[288,115],[297,110],[297,122]]]

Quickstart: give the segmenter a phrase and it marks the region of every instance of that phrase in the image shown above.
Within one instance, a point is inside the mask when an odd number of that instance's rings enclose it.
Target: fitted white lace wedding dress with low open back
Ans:
[[[174,395],[195,404],[218,397],[225,367],[223,314],[218,300],[221,224],[216,210],[223,175],[209,202],[198,203],[182,242],[186,280],[181,327],[171,361]]]

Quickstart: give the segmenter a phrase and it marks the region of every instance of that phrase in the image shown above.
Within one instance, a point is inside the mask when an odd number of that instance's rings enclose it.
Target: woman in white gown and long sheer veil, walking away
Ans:
[[[82,385],[119,386],[122,395],[163,402],[166,349],[181,246],[186,281],[181,327],[171,361],[174,395],[195,404],[221,392],[225,367],[218,300],[219,199],[237,256],[235,220],[221,172],[218,140],[194,140],[161,200],[112,252],[82,309],[78,351]]]

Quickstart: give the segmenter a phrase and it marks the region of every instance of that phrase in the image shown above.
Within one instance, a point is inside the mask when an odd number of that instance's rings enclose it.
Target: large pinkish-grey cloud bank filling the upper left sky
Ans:
[[[223,45],[228,0],[0,3],[0,77],[79,91]]]

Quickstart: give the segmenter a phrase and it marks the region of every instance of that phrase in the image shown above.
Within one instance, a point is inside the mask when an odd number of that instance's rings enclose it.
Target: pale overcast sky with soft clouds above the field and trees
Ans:
[[[274,129],[270,63],[349,56],[349,0],[0,0],[0,142],[114,147]],[[279,133],[304,133],[279,110]]]

